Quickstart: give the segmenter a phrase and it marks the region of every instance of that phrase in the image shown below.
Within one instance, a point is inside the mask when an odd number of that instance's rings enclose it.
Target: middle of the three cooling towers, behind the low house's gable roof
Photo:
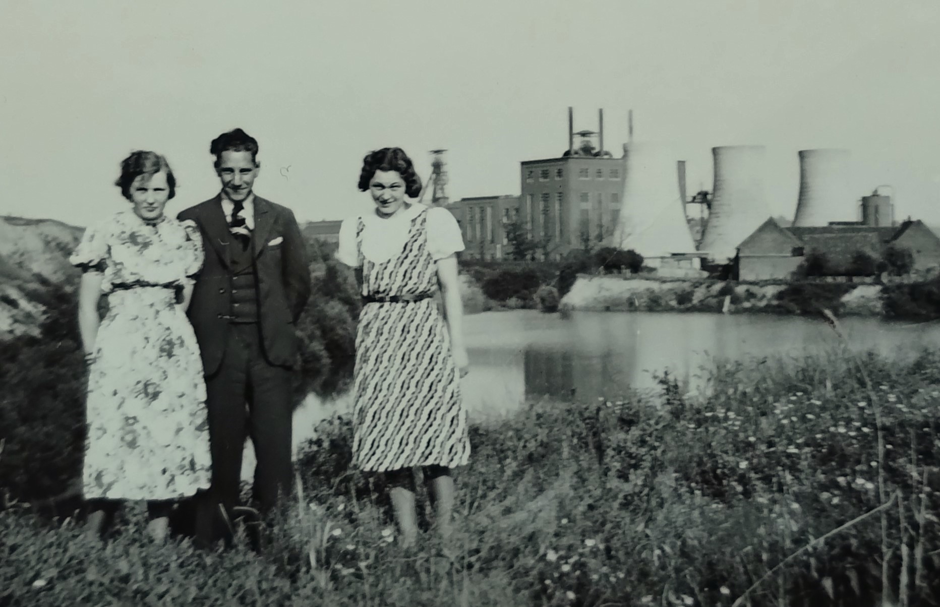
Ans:
[[[712,148],[712,154],[712,210],[698,248],[715,263],[724,264],[771,212],[764,195],[763,146],[722,146]]]

